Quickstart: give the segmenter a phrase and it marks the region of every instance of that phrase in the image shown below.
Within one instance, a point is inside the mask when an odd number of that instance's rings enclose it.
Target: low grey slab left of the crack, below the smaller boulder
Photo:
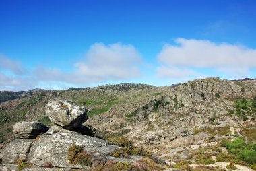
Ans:
[[[1,149],[0,158],[3,164],[16,164],[17,160],[25,160],[28,157],[32,139],[15,139],[5,148]]]

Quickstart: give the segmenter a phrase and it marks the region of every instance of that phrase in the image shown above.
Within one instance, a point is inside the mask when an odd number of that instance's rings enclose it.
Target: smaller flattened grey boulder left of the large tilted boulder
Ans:
[[[17,138],[35,138],[42,133],[45,133],[49,128],[42,123],[33,122],[18,122],[13,125],[13,133]]]

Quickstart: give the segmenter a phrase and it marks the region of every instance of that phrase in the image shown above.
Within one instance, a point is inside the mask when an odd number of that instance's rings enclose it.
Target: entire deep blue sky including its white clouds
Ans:
[[[0,0],[0,90],[256,77],[256,1]]]

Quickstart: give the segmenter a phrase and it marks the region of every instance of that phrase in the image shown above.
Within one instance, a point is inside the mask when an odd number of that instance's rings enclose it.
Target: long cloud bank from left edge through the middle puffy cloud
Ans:
[[[0,90],[29,90],[36,87],[85,87],[104,81],[139,77],[142,57],[131,44],[96,43],[90,46],[82,61],[71,64],[72,71],[38,66],[33,71],[17,61],[0,56]]]

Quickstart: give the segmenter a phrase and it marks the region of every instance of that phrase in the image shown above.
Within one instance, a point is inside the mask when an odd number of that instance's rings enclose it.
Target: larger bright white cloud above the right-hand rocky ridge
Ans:
[[[178,46],[166,44],[158,54],[162,66],[158,68],[158,75],[164,77],[189,77],[199,69],[213,69],[233,77],[248,77],[250,69],[256,67],[256,49],[241,45],[216,44],[208,40],[177,38]],[[166,72],[168,67],[169,70]],[[179,71],[172,68],[180,68]],[[177,73],[178,72],[178,73]],[[205,73],[199,73],[203,75]]]

